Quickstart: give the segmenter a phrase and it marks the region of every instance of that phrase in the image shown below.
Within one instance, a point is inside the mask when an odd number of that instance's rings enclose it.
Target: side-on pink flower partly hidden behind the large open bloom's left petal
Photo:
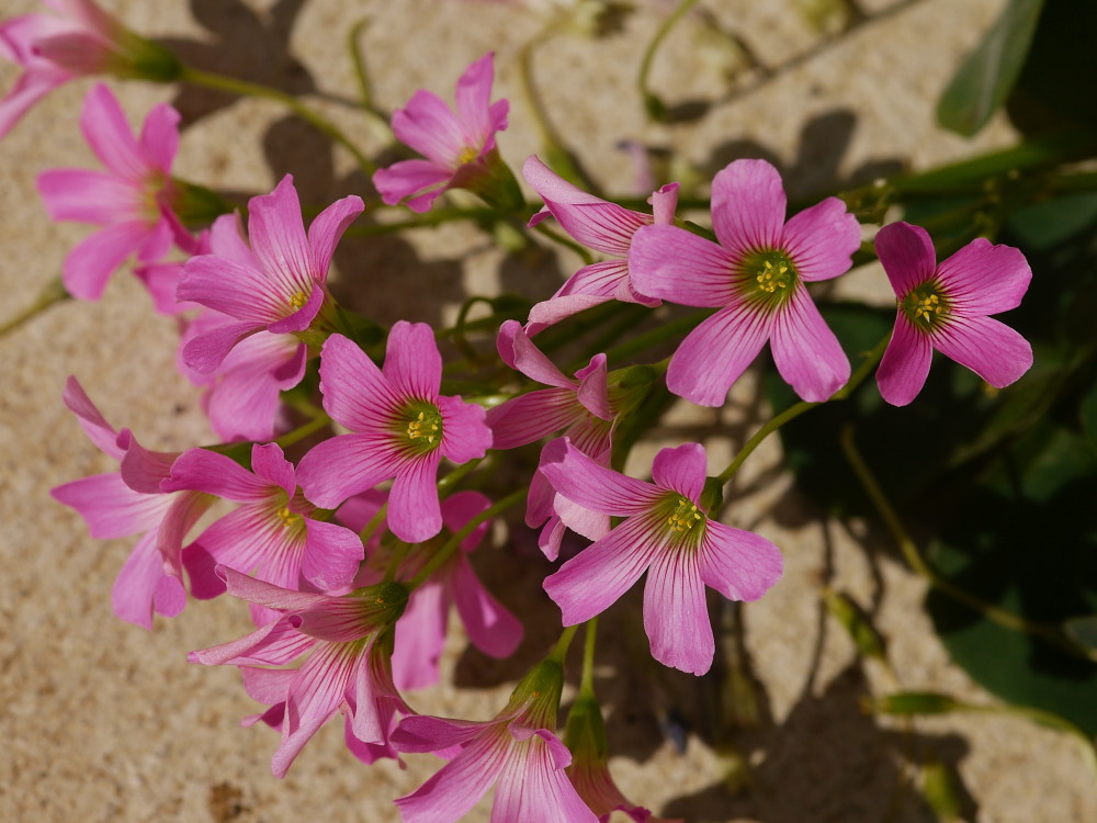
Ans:
[[[552,214],[577,241],[612,258],[579,269],[552,297],[533,306],[527,326],[529,334],[535,335],[546,326],[610,300],[660,305],[661,301],[641,294],[629,278],[629,247],[642,226],[674,223],[678,183],[664,185],[651,196],[652,215],[588,194],[555,174],[536,155],[527,158],[522,174],[545,202],[545,208],[530,221],[531,226]]]

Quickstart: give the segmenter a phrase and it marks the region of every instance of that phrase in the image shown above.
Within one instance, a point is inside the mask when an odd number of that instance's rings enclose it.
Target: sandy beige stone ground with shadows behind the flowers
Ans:
[[[383,109],[403,104],[420,87],[449,99],[461,70],[494,49],[497,95],[512,101],[500,148],[514,167],[539,148],[516,61],[540,23],[520,9],[457,0],[103,5],[197,65],[310,92],[370,150],[381,147],[376,132],[332,97],[353,94],[343,46],[353,22],[370,21],[362,44]],[[772,75],[746,71],[730,80],[719,47],[699,35],[695,20],[687,22],[660,53],[653,84],[672,105],[704,101],[708,108],[699,119],[659,126],[645,123],[633,78],[672,3],[637,5],[622,31],[598,44],[561,35],[535,52],[535,81],[557,129],[610,191],[640,193],[621,140],[672,153],[679,158],[674,173],[701,180],[735,157],[769,157],[794,195],[810,195],[1011,139],[1003,122],[963,140],[932,119],[932,101],[1000,0],[862,2],[870,20],[840,38],[826,38],[805,22],[798,9],[807,2],[702,0],[700,8],[749,44]],[[5,0],[2,13],[36,8],[32,0]],[[214,50],[218,44],[225,49]],[[0,66],[0,88],[14,78],[10,66]],[[49,223],[34,180],[47,168],[94,165],[76,127],[88,88],[78,81],[56,91],[0,145],[2,315],[30,303],[87,234]],[[249,194],[293,172],[304,200],[319,206],[371,191],[348,154],[329,150],[276,103],[142,83],[115,88],[132,122],[159,101],[173,101],[183,112],[181,177]],[[348,243],[337,257],[337,288],[383,323],[439,322],[471,290],[547,295],[575,264],[548,253],[507,256],[471,226],[451,224],[399,239]],[[871,275],[855,277],[867,283]],[[173,323],[151,313],[125,272],[100,303],[68,303],[0,339],[0,820],[398,820],[392,799],[419,786],[437,759],[409,756],[405,769],[392,762],[363,766],[332,723],[285,780],[271,777],[276,735],[239,728],[256,704],[238,674],[185,659],[190,650],[248,631],[246,609],[227,598],[191,604],[174,620],[158,618],[151,633],[118,621],[110,591],[132,541],[92,540],[82,520],[49,497],[53,486],[114,469],[60,403],[70,374],[109,420],[132,428],[148,447],[180,450],[213,440],[196,390],[174,369],[176,343]],[[739,384],[719,415],[676,407],[635,463],[643,465],[658,446],[702,436],[713,467],[722,466],[758,425],[751,388],[749,379]],[[769,537],[787,562],[781,583],[744,610],[769,721],[730,740],[749,763],[753,783],[737,793],[725,789],[734,757],[703,742],[712,739],[714,722],[708,681],[672,676],[647,661],[635,596],[611,609],[601,635],[598,684],[610,712],[614,774],[636,801],[694,823],[932,820],[919,800],[917,776],[904,766],[903,735],[860,709],[863,696],[886,694],[892,684],[878,668],[862,668],[847,636],[824,618],[821,582],[875,605],[903,687],[976,702],[992,698],[950,664],[921,609],[924,585],[892,549],[871,539],[863,523],[819,521],[789,478],[773,471],[779,462],[778,444],[768,442],[744,470],[740,497],[728,510],[728,522]],[[529,551],[528,534],[517,527],[511,534],[511,548],[482,550],[477,563],[521,616],[525,644],[514,661],[499,663],[470,652],[453,631],[445,680],[411,697],[418,710],[490,717],[557,635],[558,613],[538,585],[550,565]],[[521,563],[510,556],[516,551]],[[679,747],[667,731],[681,723],[689,731]],[[924,756],[958,768],[977,808],[973,819],[1097,820],[1093,776],[1075,744],[1059,734],[1017,720],[950,717],[918,722],[913,740]],[[486,821],[489,809],[482,802],[467,819]]]

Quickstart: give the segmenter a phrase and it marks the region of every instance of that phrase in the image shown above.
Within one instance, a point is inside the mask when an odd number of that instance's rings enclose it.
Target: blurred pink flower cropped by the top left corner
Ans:
[[[59,12],[24,14],[0,24],[0,57],[23,69],[0,100],[0,138],[26,111],[75,77],[111,74],[170,80],[179,63],[91,0],[44,0]]]

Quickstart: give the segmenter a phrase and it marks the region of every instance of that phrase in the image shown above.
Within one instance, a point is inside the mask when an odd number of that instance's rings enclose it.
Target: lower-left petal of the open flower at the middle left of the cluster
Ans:
[[[403,458],[371,435],[339,435],[314,446],[297,465],[297,484],[316,506],[331,509],[394,477]]]

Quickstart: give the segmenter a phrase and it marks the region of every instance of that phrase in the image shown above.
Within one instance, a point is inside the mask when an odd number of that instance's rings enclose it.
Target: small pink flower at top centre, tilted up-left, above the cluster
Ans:
[[[475,191],[491,177],[498,165],[495,133],[507,127],[510,108],[506,100],[489,102],[493,59],[489,52],[457,80],[455,114],[425,89],[393,113],[396,138],[427,159],[400,160],[374,173],[373,184],[386,204],[406,201],[412,212],[426,212],[446,189]]]

